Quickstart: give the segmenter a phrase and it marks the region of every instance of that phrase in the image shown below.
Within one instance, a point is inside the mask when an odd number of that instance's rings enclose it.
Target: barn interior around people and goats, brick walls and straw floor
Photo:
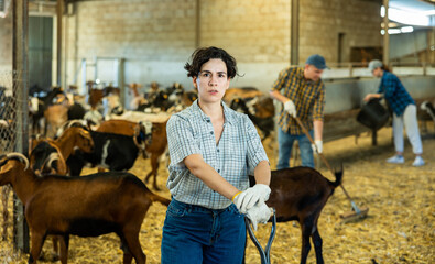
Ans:
[[[218,46],[238,62],[240,76],[230,88],[254,88],[268,98],[283,68],[304,66],[309,55],[323,55],[328,65],[322,76],[326,88],[324,153],[334,166],[344,164],[344,185],[358,205],[370,208],[367,219],[344,223],[340,215],[352,208],[341,190],[335,191],[319,219],[325,260],[433,262],[435,116],[421,106],[435,105],[434,0],[0,0],[0,40],[2,154],[30,153],[29,139],[37,132],[28,100],[46,96],[54,87],[70,94],[73,103],[84,103],[86,111],[94,109],[90,91],[115,88],[118,106],[134,112],[135,97],[146,97],[156,86],[194,92],[184,65],[195,48]],[[384,62],[415,100],[425,166],[385,165],[394,152],[391,118],[377,129],[357,120],[365,96],[379,87],[379,78],[368,70],[372,59]],[[109,99],[101,102],[101,116],[113,110],[105,108]],[[274,101],[273,109],[276,122],[281,103]],[[145,121],[162,123],[178,110],[151,109]],[[54,136],[56,130],[47,133]],[[263,141],[272,169],[278,158],[275,134],[276,125]],[[168,161],[163,153],[159,158],[157,183],[151,179],[146,186],[171,198],[165,185]],[[411,161],[412,154],[405,154],[405,160]],[[139,155],[129,172],[145,182],[154,170],[152,163],[152,157]],[[291,164],[300,163],[294,152]],[[319,157],[316,168],[333,177]],[[94,172],[96,167],[84,168],[81,175]],[[12,197],[3,195],[2,199],[1,211],[9,210],[10,217],[3,218],[3,230],[9,229],[0,241],[0,262],[24,263],[30,241],[25,228],[20,228],[20,223],[25,227],[23,208],[15,208]],[[164,206],[153,205],[141,229],[142,249],[151,264],[160,263],[165,211]],[[21,221],[12,216],[21,216]],[[269,232],[267,224],[257,235],[265,242]],[[296,223],[279,223],[271,263],[297,263],[300,237]],[[250,242],[247,263],[260,263]],[[118,248],[116,235],[72,237],[68,261],[121,263]],[[43,261],[55,258],[47,240]],[[313,251],[308,263],[316,263]]]

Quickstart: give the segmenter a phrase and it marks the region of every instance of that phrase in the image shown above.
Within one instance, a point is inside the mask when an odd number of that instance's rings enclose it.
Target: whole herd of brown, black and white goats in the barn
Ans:
[[[120,238],[123,263],[131,263],[132,258],[135,263],[146,262],[139,242],[141,224],[152,202],[167,206],[170,200],[153,194],[144,183],[153,176],[152,187],[159,190],[156,176],[167,150],[167,118],[188,107],[197,96],[178,84],[164,90],[154,87],[143,96],[138,88],[135,84],[130,86],[133,99],[129,107],[133,110],[121,107],[119,89],[113,87],[89,86],[86,105],[72,102],[61,88],[52,89],[44,98],[31,99],[33,136],[29,157],[20,153],[0,156],[0,185],[12,186],[25,207],[32,242],[29,263],[36,263],[47,235],[52,237],[56,253],[59,246],[59,260],[65,264],[69,234],[97,237],[110,232]],[[274,106],[269,97],[254,88],[231,88],[224,100],[249,116],[262,140],[271,136]],[[163,120],[150,118],[160,113]],[[36,136],[41,119],[45,119],[45,129],[43,136]],[[143,180],[128,173],[141,154],[151,163],[151,172]],[[87,165],[98,167],[98,173],[83,176]],[[301,263],[306,263],[309,239],[317,263],[324,263],[317,220],[340,185],[342,169],[335,176],[336,180],[330,182],[306,167],[272,172],[268,205],[275,208],[279,222],[300,222]],[[3,240],[7,197],[3,197]]]

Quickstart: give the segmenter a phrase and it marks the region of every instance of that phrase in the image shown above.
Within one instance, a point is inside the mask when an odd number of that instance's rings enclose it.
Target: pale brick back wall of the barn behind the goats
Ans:
[[[197,0],[75,3],[74,13],[64,16],[64,85],[83,82],[83,58],[88,62],[86,79],[93,79],[95,58],[115,57],[124,59],[127,84],[134,81],[146,86],[155,80],[168,86],[178,81],[191,88],[183,66],[198,38],[200,46],[220,46],[237,58],[243,77],[236,78],[232,86],[268,90],[290,62],[291,0],[199,0],[198,35],[196,4]],[[300,0],[300,6],[302,64],[313,53],[323,54],[327,62],[336,62],[339,33],[345,34],[344,61],[348,61],[352,46],[380,46],[382,43],[380,3]],[[11,34],[4,32],[4,28],[7,25],[0,24],[0,34]],[[8,44],[2,41],[0,45]],[[9,47],[0,51],[7,50]],[[11,61],[11,55],[0,52],[0,64],[8,64],[8,59]]]

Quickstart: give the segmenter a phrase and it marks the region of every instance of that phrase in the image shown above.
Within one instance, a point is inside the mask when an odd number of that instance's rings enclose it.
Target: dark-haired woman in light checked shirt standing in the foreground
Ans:
[[[198,99],[167,121],[172,200],[163,226],[162,264],[242,263],[244,213],[254,229],[271,210],[264,201],[271,169],[255,127],[222,102],[236,59],[202,47],[184,67]],[[248,175],[257,184],[249,188]]]

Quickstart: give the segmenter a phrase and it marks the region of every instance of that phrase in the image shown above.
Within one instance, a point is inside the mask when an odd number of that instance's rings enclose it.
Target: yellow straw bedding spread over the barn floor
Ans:
[[[265,144],[268,145],[268,144]],[[350,210],[350,204],[340,188],[325,206],[319,219],[319,231],[324,239],[326,263],[435,263],[435,139],[424,139],[426,165],[412,167],[411,146],[405,151],[405,164],[385,164],[393,153],[391,129],[383,129],[378,135],[378,146],[371,146],[370,135],[362,135],[355,144],[354,138],[326,143],[325,155],[331,164],[344,163],[344,185],[359,207],[370,208],[365,220],[341,223],[339,215]],[[273,152],[268,150],[274,167]],[[131,172],[143,179],[150,170],[149,161],[139,158]],[[328,178],[325,167],[319,170]],[[87,169],[85,173],[91,173]],[[157,194],[170,197],[165,188],[167,172],[165,164],[159,170]],[[150,185],[151,186],[151,185]],[[10,205],[11,206],[11,205]],[[1,209],[1,206],[0,206]],[[161,230],[165,207],[153,205],[143,222],[140,240],[148,256],[148,263],[160,263]],[[270,224],[261,226],[258,239],[265,245]],[[11,232],[10,232],[11,233]],[[247,263],[260,263],[259,254],[249,240]],[[44,260],[48,262],[51,240],[44,245]],[[293,222],[278,223],[272,245],[272,263],[298,263],[301,232]],[[0,242],[0,263],[26,263],[28,255],[14,255],[11,238]],[[69,263],[121,263],[122,252],[115,234],[99,238],[72,237]],[[312,249],[308,263],[315,263]]]

